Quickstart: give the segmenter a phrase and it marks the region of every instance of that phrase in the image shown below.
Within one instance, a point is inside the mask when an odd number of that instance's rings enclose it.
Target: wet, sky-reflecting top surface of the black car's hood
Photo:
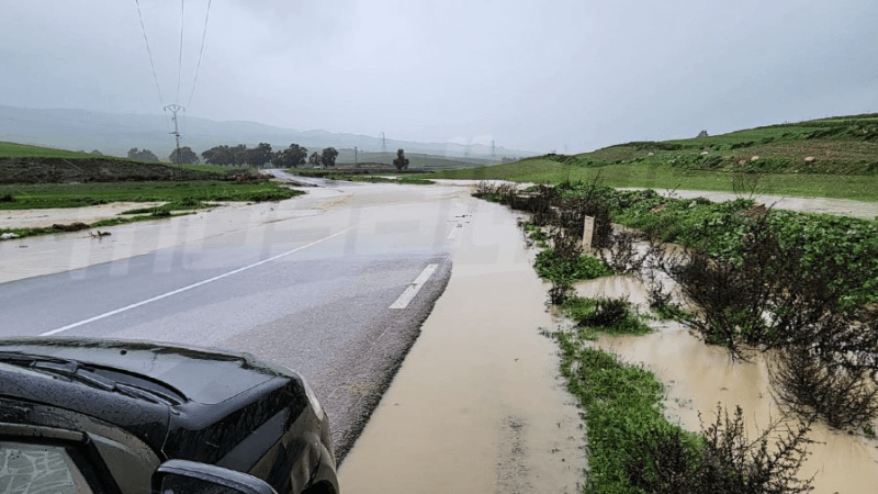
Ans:
[[[149,378],[169,386],[187,402],[212,405],[227,401],[290,372],[256,360],[249,353],[94,338],[0,338],[0,352],[76,360]]]

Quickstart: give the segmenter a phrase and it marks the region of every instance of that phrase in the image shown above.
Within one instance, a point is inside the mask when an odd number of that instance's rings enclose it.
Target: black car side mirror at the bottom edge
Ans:
[[[247,473],[207,463],[168,460],[153,474],[158,494],[278,494],[271,485]]]

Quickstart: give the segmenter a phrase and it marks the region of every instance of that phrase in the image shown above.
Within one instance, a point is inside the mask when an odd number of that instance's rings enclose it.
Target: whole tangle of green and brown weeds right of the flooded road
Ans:
[[[542,249],[534,268],[552,281],[549,302],[575,322],[553,336],[569,389],[586,411],[584,492],[809,492],[810,481],[796,474],[814,420],[874,434],[876,221],[772,211],[750,199],[668,199],[598,180],[525,190],[483,181],[474,195],[529,213],[520,225]],[[735,359],[772,350],[772,393],[799,425],[774,423],[750,441],[743,411],[730,417],[722,407],[700,434],[669,424],[652,373],[588,344],[650,329],[627,301],[571,293],[569,281],[604,274],[574,277],[571,257],[559,255],[569,238],[581,243],[586,215],[595,217],[593,262],[640,278],[660,317],[689,324]]]

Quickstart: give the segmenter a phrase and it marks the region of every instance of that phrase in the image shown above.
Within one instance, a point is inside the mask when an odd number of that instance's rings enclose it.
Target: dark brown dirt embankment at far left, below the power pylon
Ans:
[[[113,158],[0,158],[0,183],[223,180],[209,171]]]

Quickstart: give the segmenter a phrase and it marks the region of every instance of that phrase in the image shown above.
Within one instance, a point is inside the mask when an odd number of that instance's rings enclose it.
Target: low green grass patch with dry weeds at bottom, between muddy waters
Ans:
[[[747,438],[743,411],[718,405],[700,434],[663,414],[655,375],[590,347],[586,328],[554,334],[567,390],[586,411],[588,472],[584,493],[804,493],[796,474],[807,456],[810,422],[770,424]],[[778,437],[779,434],[779,437]]]

